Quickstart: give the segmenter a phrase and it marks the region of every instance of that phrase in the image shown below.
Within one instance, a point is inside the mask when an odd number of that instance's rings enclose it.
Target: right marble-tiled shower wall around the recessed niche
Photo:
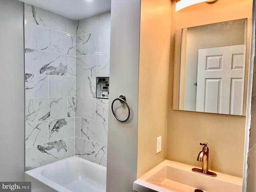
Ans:
[[[96,77],[109,77],[110,12],[76,21],[75,155],[106,166],[108,99],[96,98]]]

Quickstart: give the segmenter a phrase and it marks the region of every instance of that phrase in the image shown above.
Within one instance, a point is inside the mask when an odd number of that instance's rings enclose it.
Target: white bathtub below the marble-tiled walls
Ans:
[[[106,192],[106,167],[79,157],[25,172],[32,192]]]

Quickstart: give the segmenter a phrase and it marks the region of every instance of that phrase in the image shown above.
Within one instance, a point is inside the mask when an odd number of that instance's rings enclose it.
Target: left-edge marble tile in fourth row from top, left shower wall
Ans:
[[[48,97],[48,75],[25,74],[26,98]]]

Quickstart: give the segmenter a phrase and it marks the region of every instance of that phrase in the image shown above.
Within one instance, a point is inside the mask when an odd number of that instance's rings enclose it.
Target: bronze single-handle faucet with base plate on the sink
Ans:
[[[208,171],[209,148],[207,147],[207,143],[200,143],[200,145],[203,145],[204,147],[202,151],[199,152],[197,156],[197,160],[202,162],[202,169],[192,168],[192,171],[200,174],[216,177],[217,176],[216,173]]]

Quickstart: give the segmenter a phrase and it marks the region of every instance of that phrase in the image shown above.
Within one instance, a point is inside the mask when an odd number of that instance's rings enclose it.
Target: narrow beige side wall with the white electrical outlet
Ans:
[[[170,16],[170,0],[141,0],[137,176],[166,159]]]

